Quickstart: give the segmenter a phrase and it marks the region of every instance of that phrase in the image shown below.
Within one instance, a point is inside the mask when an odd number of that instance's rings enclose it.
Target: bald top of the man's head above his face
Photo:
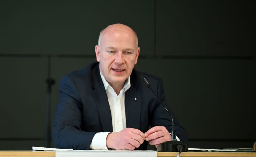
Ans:
[[[125,32],[125,33],[129,33],[129,34],[133,34],[134,36],[134,39],[136,40],[136,45],[138,47],[138,37],[137,37],[137,34],[136,32],[128,27],[127,25],[124,25],[124,24],[113,24],[113,25],[109,25],[108,27],[106,27],[105,29],[103,29],[101,32],[100,32],[100,35],[99,35],[99,39],[98,39],[98,45],[100,46],[101,45],[101,42],[107,38],[107,36],[109,34],[113,34],[113,33],[119,33],[119,32]]]

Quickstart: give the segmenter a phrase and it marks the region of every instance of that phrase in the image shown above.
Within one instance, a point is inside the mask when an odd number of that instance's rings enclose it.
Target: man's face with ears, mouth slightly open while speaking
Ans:
[[[121,85],[131,75],[137,63],[140,48],[137,38],[131,31],[106,31],[100,46],[95,46],[100,72],[112,86]]]

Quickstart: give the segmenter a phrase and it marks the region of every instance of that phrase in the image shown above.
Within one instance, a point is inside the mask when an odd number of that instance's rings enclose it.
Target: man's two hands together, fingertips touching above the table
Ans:
[[[172,139],[168,130],[164,126],[155,126],[149,129],[145,134],[138,129],[126,128],[120,132],[110,133],[106,139],[107,148],[117,150],[138,148],[144,140],[149,141],[150,145],[155,145],[170,141]]]

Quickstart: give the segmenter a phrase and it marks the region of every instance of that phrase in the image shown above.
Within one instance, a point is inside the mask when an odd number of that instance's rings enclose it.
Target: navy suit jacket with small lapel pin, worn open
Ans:
[[[125,92],[126,127],[145,133],[149,126],[165,126],[171,132],[170,116],[146,87],[142,75],[168,108],[162,80],[133,69],[130,76],[131,87]],[[83,70],[64,76],[59,90],[60,100],[52,128],[52,139],[56,148],[88,150],[97,132],[112,132],[111,111],[100,77],[99,63],[92,63]],[[173,118],[176,135],[181,141],[187,141],[186,131],[174,116]],[[138,149],[146,150],[147,141]]]

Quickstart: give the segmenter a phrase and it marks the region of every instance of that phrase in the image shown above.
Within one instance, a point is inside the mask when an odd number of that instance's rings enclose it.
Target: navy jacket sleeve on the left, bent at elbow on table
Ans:
[[[65,76],[61,79],[60,100],[52,127],[52,139],[56,148],[88,150],[97,132],[81,130],[82,103],[75,82]]]

